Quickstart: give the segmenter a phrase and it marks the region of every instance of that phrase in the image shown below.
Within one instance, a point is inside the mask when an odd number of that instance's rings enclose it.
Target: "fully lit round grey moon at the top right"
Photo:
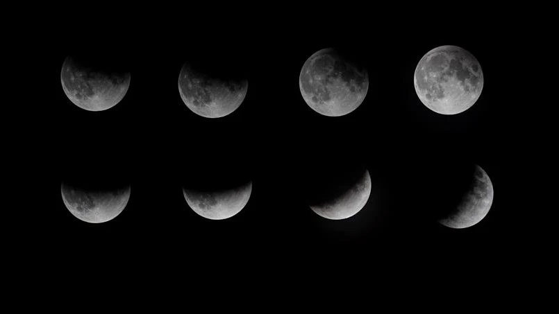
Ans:
[[[458,46],[440,46],[415,68],[415,91],[426,107],[439,114],[459,114],[472,107],[483,89],[481,66]]]

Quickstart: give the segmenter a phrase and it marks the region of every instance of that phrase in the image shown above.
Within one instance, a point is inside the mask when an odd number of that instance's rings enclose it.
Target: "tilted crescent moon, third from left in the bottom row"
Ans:
[[[351,183],[350,183],[351,182]],[[348,186],[349,183],[349,186]],[[371,176],[365,170],[359,177],[353,177],[346,182],[328,182],[331,186],[336,186],[338,191],[325,195],[323,200],[310,204],[310,209],[319,216],[332,220],[349,218],[358,213],[369,200],[371,194]],[[331,194],[335,196],[331,197]]]

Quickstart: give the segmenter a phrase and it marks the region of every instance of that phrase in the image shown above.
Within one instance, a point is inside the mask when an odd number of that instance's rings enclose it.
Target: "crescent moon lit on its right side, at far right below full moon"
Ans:
[[[444,226],[462,229],[479,223],[489,212],[493,202],[493,184],[487,173],[476,165],[470,189],[460,204],[447,216],[439,220]]]

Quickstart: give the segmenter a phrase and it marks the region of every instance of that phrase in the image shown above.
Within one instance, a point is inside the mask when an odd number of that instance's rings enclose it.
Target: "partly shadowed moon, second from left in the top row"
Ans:
[[[247,96],[248,80],[221,80],[197,73],[185,64],[178,76],[178,92],[195,114],[220,118],[237,110]]]

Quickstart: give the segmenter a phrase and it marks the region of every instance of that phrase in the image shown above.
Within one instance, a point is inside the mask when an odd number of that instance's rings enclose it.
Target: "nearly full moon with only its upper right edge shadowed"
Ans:
[[[367,70],[358,69],[334,49],[322,49],[307,59],[299,76],[307,105],[325,116],[343,116],[356,110],[367,95]]]

